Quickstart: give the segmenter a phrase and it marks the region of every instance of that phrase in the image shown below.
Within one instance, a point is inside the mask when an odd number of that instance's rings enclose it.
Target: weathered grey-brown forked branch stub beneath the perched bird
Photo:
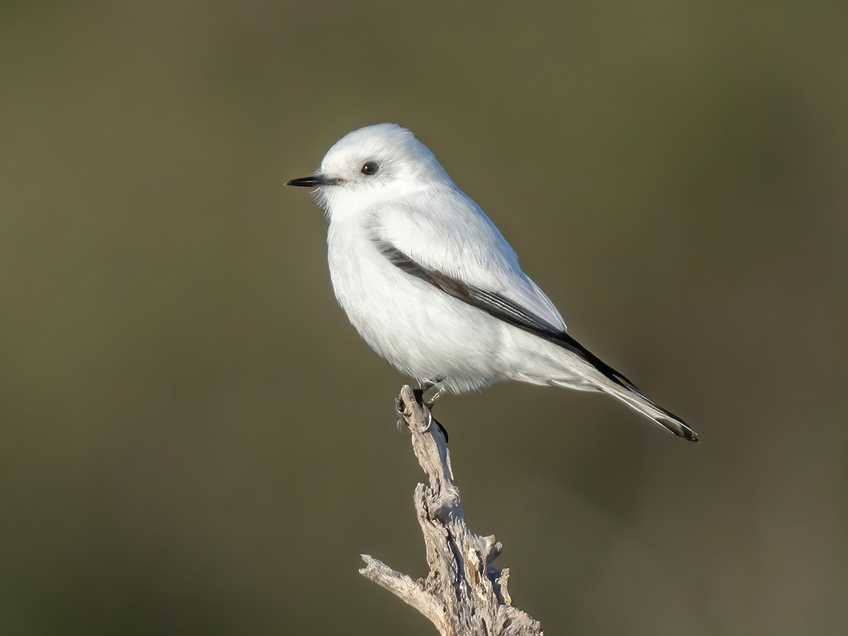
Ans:
[[[538,621],[511,605],[509,569],[492,565],[501,545],[466,526],[444,433],[408,386],[400,400],[412,449],[430,482],[418,484],[414,499],[430,573],[413,580],[368,555],[362,555],[360,573],[427,616],[443,636],[541,636]]]

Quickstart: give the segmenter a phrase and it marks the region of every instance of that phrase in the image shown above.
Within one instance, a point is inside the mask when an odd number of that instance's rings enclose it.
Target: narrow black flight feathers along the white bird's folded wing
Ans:
[[[494,318],[523,329],[526,332],[533,333],[539,338],[544,338],[563,349],[568,349],[573,354],[577,354],[577,356],[589,362],[590,365],[594,366],[595,369],[600,371],[611,382],[615,382],[620,387],[628,388],[638,393],[638,389],[633,386],[633,382],[630,382],[622,373],[607,365],[603,360],[600,360],[589,349],[583,347],[577,340],[569,336],[565,329],[551,325],[550,322],[545,321],[543,318],[534,314],[533,311],[527,310],[510,298],[500,293],[488,292],[466,282],[457,281],[455,278],[447,276],[440,271],[427,268],[387,241],[376,240],[375,245],[390,263],[410,276],[415,276],[422,281],[428,282],[449,296],[470,304],[472,307],[477,307],[477,309],[485,311],[488,315],[494,316]]]

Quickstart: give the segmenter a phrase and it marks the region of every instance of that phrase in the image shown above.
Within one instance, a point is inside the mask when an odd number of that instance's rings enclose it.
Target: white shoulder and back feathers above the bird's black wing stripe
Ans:
[[[536,316],[557,332],[566,323],[550,299],[522,271],[515,251],[488,216],[455,187],[394,199],[373,217],[372,236],[428,271],[485,290]]]

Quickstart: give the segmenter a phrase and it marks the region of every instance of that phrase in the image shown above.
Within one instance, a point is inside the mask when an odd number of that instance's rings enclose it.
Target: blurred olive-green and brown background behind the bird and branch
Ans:
[[[306,192],[393,121],[700,432],[449,397],[545,633],[848,630],[848,4],[0,5],[0,633],[432,634],[403,377]],[[438,326],[433,327],[438,328]]]

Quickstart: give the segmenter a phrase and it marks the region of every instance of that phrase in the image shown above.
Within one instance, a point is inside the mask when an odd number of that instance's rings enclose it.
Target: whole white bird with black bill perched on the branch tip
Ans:
[[[602,391],[698,441],[566,332],[498,228],[410,131],[353,131],[287,185],[313,188],[326,211],[332,287],[356,330],[435,387],[433,399],[506,380]]]

